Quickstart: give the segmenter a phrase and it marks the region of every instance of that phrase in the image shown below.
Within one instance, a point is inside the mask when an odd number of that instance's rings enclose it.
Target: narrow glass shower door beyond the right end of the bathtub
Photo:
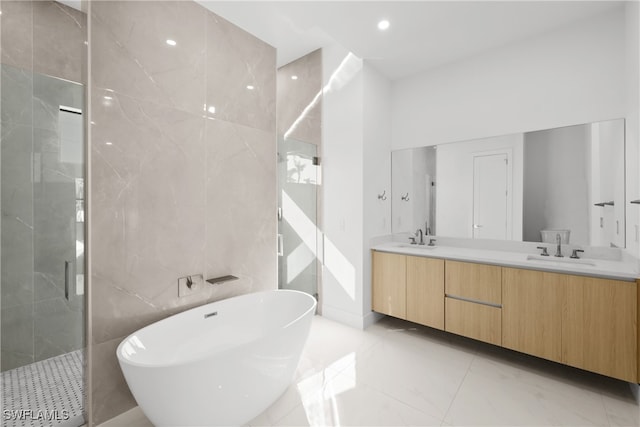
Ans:
[[[278,287],[318,297],[317,146],[278,142]]]

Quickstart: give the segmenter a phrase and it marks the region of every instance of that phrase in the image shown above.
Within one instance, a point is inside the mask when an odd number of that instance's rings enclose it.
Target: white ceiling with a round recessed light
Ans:
[[[278,49],[278,66],[338,42],[390,79],[587,19],[624,2],[198,0]],[[386,32],[377,22],[388,19]]]

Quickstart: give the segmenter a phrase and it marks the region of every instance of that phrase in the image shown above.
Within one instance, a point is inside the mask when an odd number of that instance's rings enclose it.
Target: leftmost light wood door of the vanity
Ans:
[[[406,318],[406,258],[405,255],[372,252],[373,311]]]

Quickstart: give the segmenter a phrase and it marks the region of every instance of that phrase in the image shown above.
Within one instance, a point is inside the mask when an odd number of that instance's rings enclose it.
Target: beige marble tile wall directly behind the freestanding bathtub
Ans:
[[[276,57],[189,1],[93,1],[90,13],[98,424],[135,405],[115,356],[125,336],[277,287]],[[240,280],[179,298],[192,274]]]

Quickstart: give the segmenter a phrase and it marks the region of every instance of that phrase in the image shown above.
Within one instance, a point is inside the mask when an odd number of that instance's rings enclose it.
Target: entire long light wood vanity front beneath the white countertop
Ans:
[[[374,311],[640,383],[640,280],[372,257]]]

